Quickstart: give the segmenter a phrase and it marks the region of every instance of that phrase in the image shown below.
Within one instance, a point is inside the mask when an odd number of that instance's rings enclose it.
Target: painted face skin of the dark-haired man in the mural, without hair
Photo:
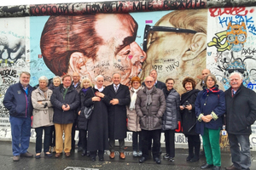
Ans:
[[[96,58],[76,52],[85,60],[84,65],[75,66],[84,74],[81,78],[89,77],[94,81],[96,76],[102,75],[107,86],[112,83],[112,74],[118,72],[121,83],[129,85],[131,77],[140,73],[146,59],[145,52],[135,42],[137,23],[130,14],[97,14],[95,29],[97,36],[102,38]]]

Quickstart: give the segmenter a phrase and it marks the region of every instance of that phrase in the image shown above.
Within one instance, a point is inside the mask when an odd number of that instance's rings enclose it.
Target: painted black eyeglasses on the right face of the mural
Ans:
[[[182,29],[182,28],[175,28],[169,26],[145,26],[144,30],[144,38],[143,38],[143,51],[147,51],[147,41],[148,41],[148,32],[149,31],[173,31],[173,32],[183,32],[183,33],[193,33],[195,34],[197,31]]]

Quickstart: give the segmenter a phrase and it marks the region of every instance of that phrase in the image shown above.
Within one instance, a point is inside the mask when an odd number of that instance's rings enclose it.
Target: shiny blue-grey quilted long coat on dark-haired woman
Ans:
[[[163,92],[166,97],[166,111],[162,117],[162,129],[174,130],[177,128],[177,121],[180,119],[179,105],[180,95],[172,88],[170,94],[166,94],[167,89],[164,88]]]

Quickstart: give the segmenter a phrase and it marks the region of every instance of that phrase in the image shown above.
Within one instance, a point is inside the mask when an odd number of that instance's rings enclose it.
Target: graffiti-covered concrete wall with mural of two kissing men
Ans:
[[[225,89],[230,88],[230,73],[239,71],[243,85],[256,91],[255,9],[0,18],[0,139],[11,137],[3,97],[9,85],[19,81],[20,71],[31,72],[32,86],[41,76],[50,79],[73,71],[92,81],[101,74],[105,85],[119,72],[129,86],[131,77],[144,78],[155,69],[162,82],[174,78],[182,94],[183,78],[199,82],[201,70],[208,68]],[[256,124],[252,128],[255,147]],[[32,139],[34,134],[32,130]]]

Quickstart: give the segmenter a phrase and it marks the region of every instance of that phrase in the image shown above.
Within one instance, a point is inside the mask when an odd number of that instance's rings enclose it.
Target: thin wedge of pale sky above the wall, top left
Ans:
[[[83,3],[83,2],[106,2],[117,0],[1,0],[0,6],[25,5],[25,4],[44,4],[44,3]]]

